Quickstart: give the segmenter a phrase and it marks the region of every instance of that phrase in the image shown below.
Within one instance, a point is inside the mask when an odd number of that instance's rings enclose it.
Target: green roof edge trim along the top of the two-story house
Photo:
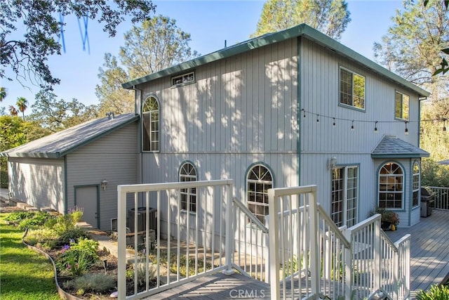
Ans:
[[[384,77],[387,77],[391,80],[396,81],[398,84],[401,84],[402,86],[405,86],[406,88],[411,89],[412,91],[415,91],[420,96],[427,97],[430,95],[430,93],[428,91],[421,89],[420,87],[416,86],[415,84],[411,83],[410,81],[407,81],[406,79],[403,79],[399,75],[394,74],[393,72],[387,70],[386,68],[384,68],[380,65],[377,65],[377,63],[373,62],[372,60],[369,60],[365,56],[362,56],[361,54],[357,53],[356,51],[352,50],[351,48],[348,48],[347,46],[340,44],[338,41],[335,41],[334,39],[328,37],[326,34],[323,34],[323,33],[319,32],[318,30],[315,30],[314,28],[309,27],[308,25],[305,25],[305,24],[297,25],[295,27],[289,28],[288,30],[283,30],[280,32],[264,34],[260,37],[250,39],[248,41],[243,41],[234,46],[229,46],[227,48],[220,49],[219,51],[215,51],[213,53],[207,54],[206,56],[201,56],[199,58],[189,60],[185,63],[180,63],[179,65],[174,65],[173,67],[168,67],[165,70],[161,70],[159,72],[149,74],[145,77],[140,77],[138,79],[128,81],[128,82],[122,84],[122,87],[124,89],[131,89],[131,88],[133,88],[133,86],[136,86],[138,84],[143,84],[147,81],[152,81],[154,79],[159,79],[162,77],[174,75],[179,72],[184,72],[185,70],[191,70],[195,67],[205,65],[206,63],[211,63],[216,60],[228,58],[230,56],[244,53],[246,51],[250,51],[255,48],[260,48],[262,46],[267,46],[267,45],[273,44],[277,41],[284,41],[286,39],[292,39],[294,37],[300,37],[300,36],[306,37],[307,39],[314,41],[317,44],[320,44],[321,46],[323,46],[325,48],[329,48],[330,51],[335,51],[337,53],[340,53],[340,55],[342,55],[342,56],[345,56],[351,60],[361,63],[362,65],[365,65],[366,67],[368,67],[370,70],[373,70],[373,72],[376,72]]]

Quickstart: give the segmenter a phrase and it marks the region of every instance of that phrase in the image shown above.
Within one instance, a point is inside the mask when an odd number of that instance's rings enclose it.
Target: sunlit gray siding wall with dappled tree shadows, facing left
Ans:
[[[199,180],[232,178],[246,202],[251,164],[272,170],[276,186],[297,185],[297,47],[290,40],[204,65],[196,82],[143,86],[161,102],[161,151],[142,155],[143,183],[179,181],[189,160]],[[166,207],[163,207],[165,210]],[[171,221],[175,221],[175,218]]]

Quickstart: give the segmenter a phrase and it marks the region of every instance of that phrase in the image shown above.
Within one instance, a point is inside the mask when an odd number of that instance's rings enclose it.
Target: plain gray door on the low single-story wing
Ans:
[[[98,228],[98,185],[75,187],[75,205],[83,209],[83,221]]]

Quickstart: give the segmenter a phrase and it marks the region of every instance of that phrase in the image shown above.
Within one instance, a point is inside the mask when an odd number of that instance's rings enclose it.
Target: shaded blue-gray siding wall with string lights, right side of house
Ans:
[[[307,39],[302,39],[300,53],[300,108],[311,112],[306,113],[306,117],[300,117],[300,183],[318,185],[317,197],[330,211],[331,173],[327,168],[328,159],[335,156],[339,165],[359,165],[358,220],[361,221],[369,216],[377,204],[378,167],[391,160],[373,159],[371,152],[384,135],[398,136],[408,143],[418,145],[419,100],[415,93],[404,90]],[[339,105],[340,66],[365,77],[364,111]],[[396,90],[410,96],[410,121],[414,122],[408,124],[408,136],[404,134],[404,122],[394,118]],[[354,131],[351,131],[351,120],[355,121]],[[379,122],[378,133],[374,132],[375,121]],[[397,162],[396,159],[394,161]],[[406,171],[406,187],[410,188],[410,159],[399,162]],[[407,190],[406,205],[410,203],[409,196]],[[400,226],[410,225],[409,211],[399,212]]]

